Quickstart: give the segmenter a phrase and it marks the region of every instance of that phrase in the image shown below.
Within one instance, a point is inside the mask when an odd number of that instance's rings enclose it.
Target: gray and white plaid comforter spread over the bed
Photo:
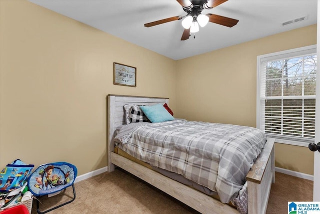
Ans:
[[[252,127],[172,120],[124,125],[114,142],[137,159],[216,191],[221,202],[234,203],[266,136]]]

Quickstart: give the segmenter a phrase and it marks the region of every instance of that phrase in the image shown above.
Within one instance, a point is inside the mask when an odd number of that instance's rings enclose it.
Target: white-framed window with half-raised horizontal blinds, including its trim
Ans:
[[[276,142],[314,141],[316,46],[257,57],[257,128]]]

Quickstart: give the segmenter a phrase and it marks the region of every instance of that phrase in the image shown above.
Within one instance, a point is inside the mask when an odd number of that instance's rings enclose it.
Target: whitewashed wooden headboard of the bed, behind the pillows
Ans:
[[[158,103],[169,104],[169,98],[140,97],[109,94],[107,99],[107,165],[108,171],[113,171],[111,164],[111,152],[114,150],[113,135],[116,127],[125,124],[125,112],[123,105],[155,105]]]

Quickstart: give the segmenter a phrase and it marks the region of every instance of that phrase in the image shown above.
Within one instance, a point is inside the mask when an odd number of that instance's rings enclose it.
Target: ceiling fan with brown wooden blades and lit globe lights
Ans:
[[[228,0],[176,0],[181,6],[183,11],[187,13],[185,16],[170,17],[163,20],[158,20],[155,22],[150,22],[144,24],[144,27],[152,27],[155,25],[160,25],[167,22],[172,22],[176,20],[182,20],[182,26],[184,31],[182,33],[181,40],[187,40],[190,37],[190,33],[195,33],[199,31],[199,26],[204,27],[208,22],[223,25],[226,27],[233,27],[239,21],[227,17],[222,17],[215,14],[203,15],[201,12],[204,9],[212,9]]]

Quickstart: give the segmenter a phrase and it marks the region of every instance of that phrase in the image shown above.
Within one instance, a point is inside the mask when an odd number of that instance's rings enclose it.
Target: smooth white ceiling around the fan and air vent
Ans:
[[[145,28],[144,24],[186,13],[174,0],[29,0],[81,23],[174,60],[191,57],[280,32],[316,24],[316,0],[229,0],[202,14],[239,20],[232,28],[208,23],[180,41],[181,20]],[[281,23],[307,16],[302,22]],[[301,38],[303,39],[303,38]]]

